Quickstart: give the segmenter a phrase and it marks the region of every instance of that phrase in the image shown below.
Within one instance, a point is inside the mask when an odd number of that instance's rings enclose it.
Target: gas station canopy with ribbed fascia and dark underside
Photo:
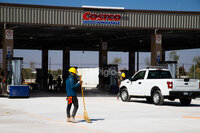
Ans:
[[[155,31],[165,50],[200,48],[200,12],[0,3],[0,24],[14,31],[15,49],[151,51]]]

